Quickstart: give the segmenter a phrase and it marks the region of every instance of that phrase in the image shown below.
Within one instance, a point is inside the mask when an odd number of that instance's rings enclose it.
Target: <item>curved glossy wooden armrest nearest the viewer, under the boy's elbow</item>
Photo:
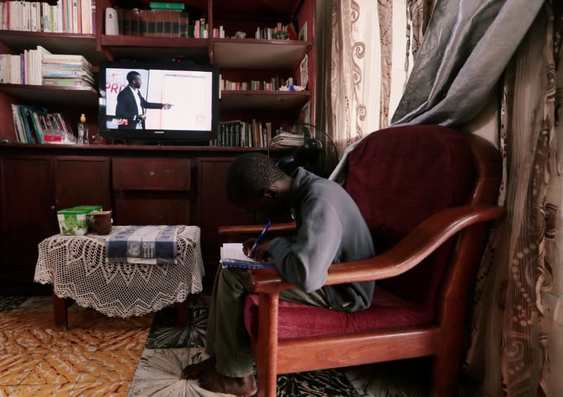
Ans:
[[[324,285],[386,279],[400,275],[418,265],[438,246],[460,230],[479,222],[502,218],[506,209],[500,206],[475,205],[448,208],[432,215],[412,230],[396,246],[365,260],[334,263]],[[272,293],[293,288],[275,269],[248,270],[254,292]]]

